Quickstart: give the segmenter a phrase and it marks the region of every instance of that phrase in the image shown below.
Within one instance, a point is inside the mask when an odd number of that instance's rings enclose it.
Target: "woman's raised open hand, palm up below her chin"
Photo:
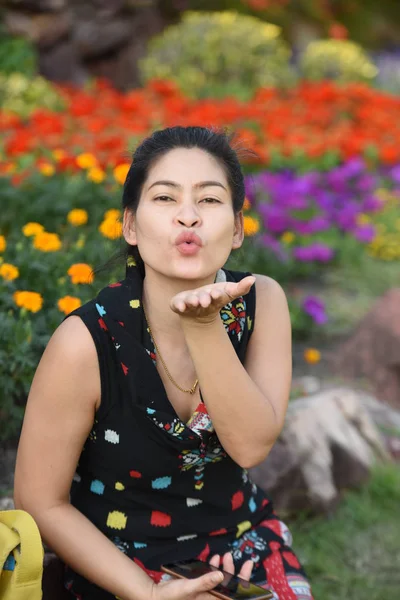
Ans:
[[[235,298],[248,294],[256,278],[253,275],[241,281],[221,281],[194,290],[180,292],[171,300],[171,309],[178,315],[200,323],[213,321],[221,308]]]

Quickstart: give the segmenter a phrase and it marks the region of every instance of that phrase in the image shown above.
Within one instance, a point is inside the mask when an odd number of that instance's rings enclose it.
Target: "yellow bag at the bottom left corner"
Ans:
[[[44,551],[39,529],[23,510],[0,511],[0,598],[42,600]]]

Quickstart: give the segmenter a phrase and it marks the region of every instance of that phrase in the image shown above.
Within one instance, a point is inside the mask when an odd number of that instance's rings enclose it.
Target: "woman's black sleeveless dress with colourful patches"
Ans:
[[[227,281],[250,275],[220,274]],[[252,581],[271,588],[276,600],[312,600],[289,530],[220,445],[207,399],[187,423],[169,402],[142,289],[130,258],[124,280],[66,317],[78,315],[87,326],[101,376],[101,405],[72,483],[72,505],[156,582],[168,578],[163,563],[207,561],[230,551],[237,569],[253,560]],[[254,329],[255,286],[220,316],[243,363]],[[69,567],[65,587],[79,600],[114,599]]]

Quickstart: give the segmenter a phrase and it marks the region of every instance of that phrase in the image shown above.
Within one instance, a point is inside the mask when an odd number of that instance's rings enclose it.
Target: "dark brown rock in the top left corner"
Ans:
[[[22,35],[40,48],[47,48],[65,38],[71,31],[71,13],[48,12],[31,15],[22,11],[9,10],[4,17],[8,31]]]

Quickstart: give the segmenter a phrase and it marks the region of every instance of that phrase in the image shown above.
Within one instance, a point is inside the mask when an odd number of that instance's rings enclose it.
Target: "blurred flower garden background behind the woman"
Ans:
[[[398,0],[0,0],[0,508],[49,337],[124,276],[131,152],[178,124],[236,132],[246,238],[228,267],[289,301],[287,423],[254,477],[316,600],[395,600]]]

